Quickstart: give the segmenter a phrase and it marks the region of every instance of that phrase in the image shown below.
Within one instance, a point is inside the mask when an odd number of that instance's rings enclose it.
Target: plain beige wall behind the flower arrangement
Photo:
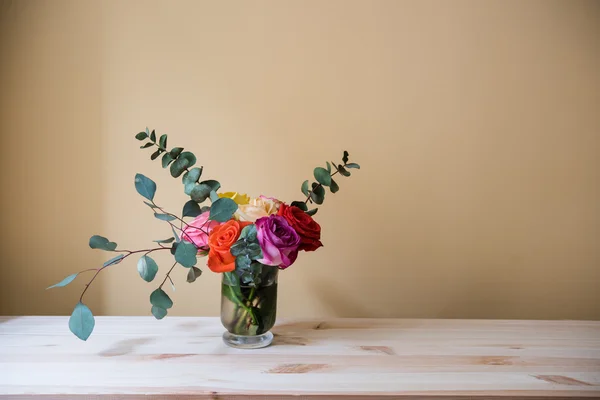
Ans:
[[[362,164],[280,315],[600,319],[600,3],[0,5],[0,313],[70,313],[83,282],[43,289],[103,260],[92,234],[170,234],[133,188],[185,201],[137,148],[150,126],[253,195]],[[216,315],[219,276],[185,272],[172,314]],[[135,260],[97,283],[97,314],[149,314]]]

